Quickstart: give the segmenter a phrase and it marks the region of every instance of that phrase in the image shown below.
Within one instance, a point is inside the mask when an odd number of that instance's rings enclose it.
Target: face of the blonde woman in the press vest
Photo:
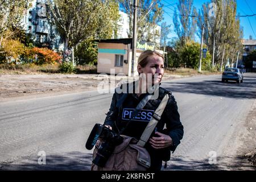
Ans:
[[[147,65],[142,68],[138,65],[138,72],[144,73],[147,77],[148,74],[152,76],[152,84],[160,83],[164,74],[164,60],[158,55],[152,55],[147,58]]]

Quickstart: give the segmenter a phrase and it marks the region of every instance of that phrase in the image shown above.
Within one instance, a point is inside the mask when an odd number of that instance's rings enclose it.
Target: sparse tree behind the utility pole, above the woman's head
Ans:
[[[129,38],[133,37],[133,0],[118,0],[121,7],[129,17]],[[160,0],[138,0],[138,20],[137,36],[138,40],[156,42],[160,37],[160,32],[154,32],[156,25],[163,19],[163,5]],[[154,34],[158,36],[154,37]]]

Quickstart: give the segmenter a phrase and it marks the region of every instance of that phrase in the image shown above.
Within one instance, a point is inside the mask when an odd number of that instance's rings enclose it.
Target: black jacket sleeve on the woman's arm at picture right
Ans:
[[[166,110],[164,112],[164,117],[166,117],[166,128],[167,133],[172,139],[172,146],[170,150],[175,151],[176,147],[180,144],[180,140],[183,138],[183,125],[180,122],[180,114],[177,108],[177,102],[174,96],[169,94],[169,100],[167,102]]]

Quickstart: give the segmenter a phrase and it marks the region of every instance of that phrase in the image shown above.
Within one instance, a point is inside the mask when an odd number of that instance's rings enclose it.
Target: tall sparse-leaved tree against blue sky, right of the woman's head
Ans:
[[[193,0],[179,0],[177,4],[179,15],[176,9],[174,12],[174,31],[181,42],[181,46],[195,37],[197,11],[192,5]]]

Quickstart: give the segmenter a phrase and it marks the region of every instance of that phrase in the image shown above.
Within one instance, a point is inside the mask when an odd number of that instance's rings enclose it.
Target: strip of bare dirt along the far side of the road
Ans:
[[[163,81],[181,77],[185,76],[165,74]],[[0,75],[0,102],[97,90],[102,82],[109,85],[112,80],[118,84],[134,81],[135,78],[110,75]]]

